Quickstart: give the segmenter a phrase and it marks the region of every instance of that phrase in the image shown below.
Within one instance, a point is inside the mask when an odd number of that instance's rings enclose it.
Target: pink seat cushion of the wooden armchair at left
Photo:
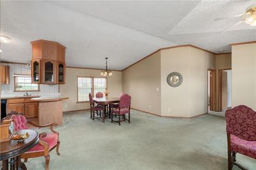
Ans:
[[[51,148],[53,148],[57,144],[58,135],[51,133],[51,134],[47,134],[45,137],[40,137],[40,139],[41,141],[44,141],[45,143],[49,144],[49,150],[51,150]],[[44,146],[42,146],[40,143],[37,143],[33,148],[26,151],[26,153],[37,152],[37,151],[44,151]]]

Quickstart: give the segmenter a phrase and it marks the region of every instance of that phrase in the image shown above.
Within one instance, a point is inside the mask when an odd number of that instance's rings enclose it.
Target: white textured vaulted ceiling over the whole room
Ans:
[[[68,66],[122,70],[154,50],[193,44],[218,53],[230,43],[256,40],[256,27],[240,19],[253,1],[1,1],[1,60],[28,62],[30,42],[38,39],[67,47]]]

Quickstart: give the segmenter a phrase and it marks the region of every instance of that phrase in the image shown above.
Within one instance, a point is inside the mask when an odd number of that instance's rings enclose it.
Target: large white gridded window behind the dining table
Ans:
[[[98,77],[77,77],[77,102],[88,102],[89,93],[93,97],[99,91],[107,90],[107,79]]]

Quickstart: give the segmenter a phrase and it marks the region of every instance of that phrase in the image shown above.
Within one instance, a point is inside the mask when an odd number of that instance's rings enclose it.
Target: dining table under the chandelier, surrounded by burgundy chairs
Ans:
[[[101,98],[93,98],[93,102],[99,105],[103,105],[103,112],[104,114],[102,115],[102,122],[105,122],[105,119],[111,114],[111,104],[112,103],[119,103],[120,98],[118,97],[113,97],[113,98],[106,98],[106,97],[101,97]]]

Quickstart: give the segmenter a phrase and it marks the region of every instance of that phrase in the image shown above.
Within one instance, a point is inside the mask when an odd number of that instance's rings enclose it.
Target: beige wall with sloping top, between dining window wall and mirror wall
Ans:
[[[160,115],[160,59],[159,51],[122,72],[123,91],[131,95],[132,108]]]

